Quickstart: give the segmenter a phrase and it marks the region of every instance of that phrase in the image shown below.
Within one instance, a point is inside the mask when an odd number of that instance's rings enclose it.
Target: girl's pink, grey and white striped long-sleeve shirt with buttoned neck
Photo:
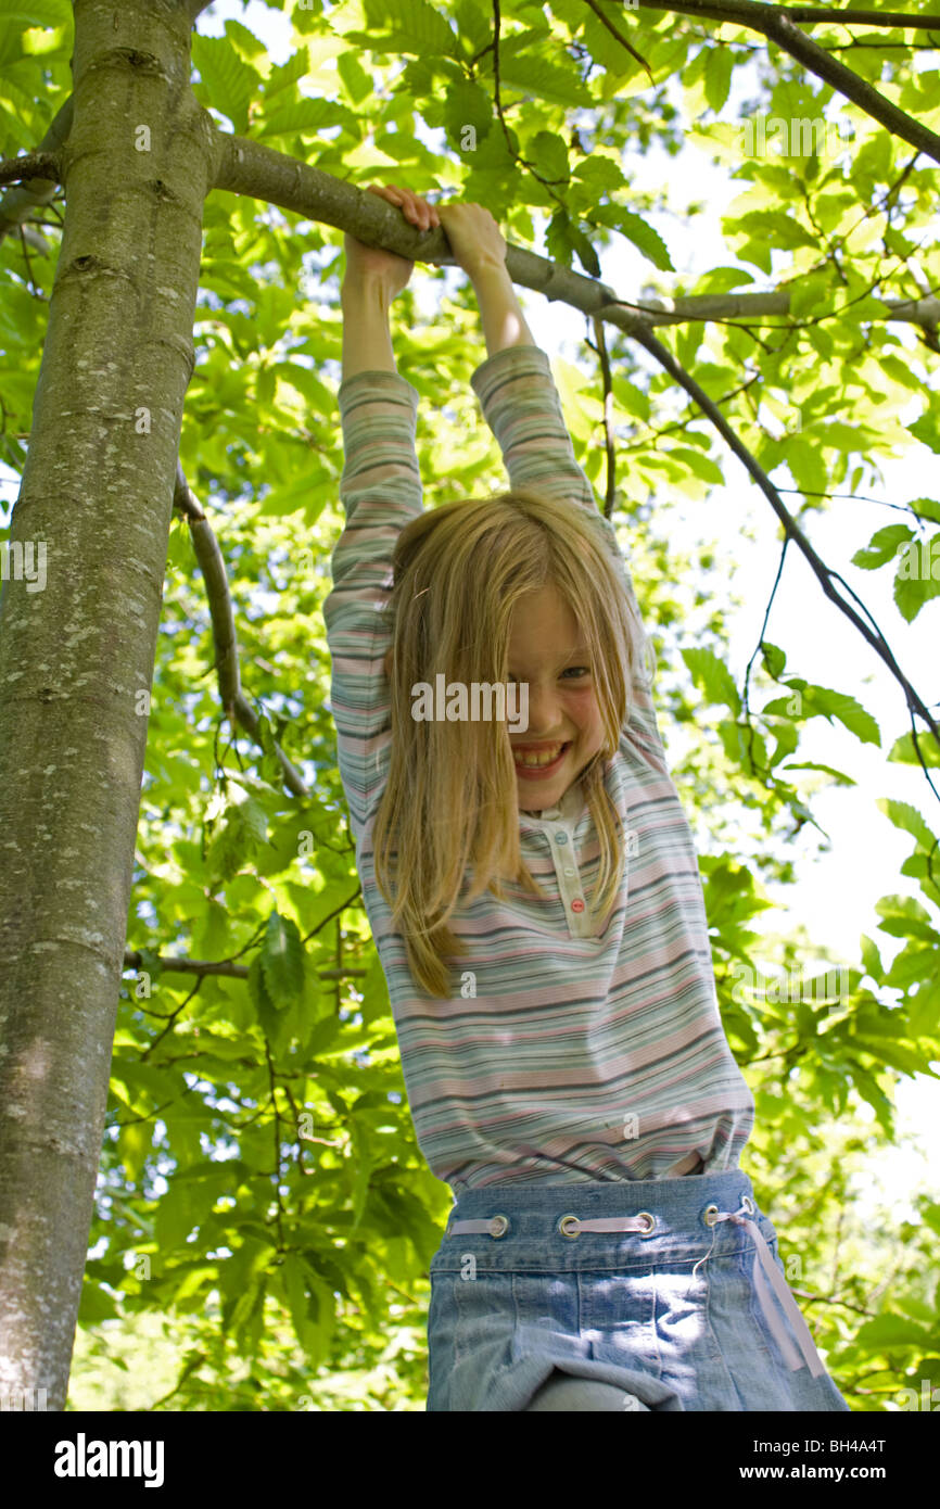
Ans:
[[[513,346],[471,382],[510,486],[528,483],[588,509],[632,596],[614,530],[575,460],[545,353]],[[435,999],[409,972],[376,884],[371,834],[391,744],[391,632],[380,610],[395,537],[422,509],[416,407],[418,392],[397,373],[356,373],[339,386],[346,528],[324,619],[339,774],[421,1151],[456,1195],[490,1183],[736,1168],[754,1102],[718,1014],[696,848],[649,684],[634,681],[607,765],[626,860],[604,930],[590,905],[599,844],[575,782],[558,807],[519,812],[522,857],[545,895],[507,883],[502,899],[486,892],[462,904],[450,925],[469,952],[453,961],[453,999]]]

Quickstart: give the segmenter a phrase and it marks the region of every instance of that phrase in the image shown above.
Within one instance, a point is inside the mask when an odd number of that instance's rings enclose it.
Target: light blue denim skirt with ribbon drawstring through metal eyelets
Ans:
[[[555,1369],[628,1409],[848,1411],[739,1169],[469,1189],[430,1283],[429,1411],[525,1409]]]

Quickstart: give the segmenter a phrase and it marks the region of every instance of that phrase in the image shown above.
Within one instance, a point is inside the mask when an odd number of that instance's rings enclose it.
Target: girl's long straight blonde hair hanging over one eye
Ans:
[[[432,996],[450,994],[445,957],[468,954],[448,927],[459,902],[486,889],[502,896],[504,878],[534,895],[545,892],[519,848],[516,770],[505,724],[416,721],[412,687],[435,685],[441,673],[445,684],[505,684],[516,604],[549,584],[590,647],[604,741],[579,779],[601,844],[593,905],[607,917],[620,883],[623,830],[604,771],[617,748],[644,640],[601,515],[534,487],[516,487],[429,509],[395,543],[386,610],[394,632],[392,742],[374,863],[412,978]]]

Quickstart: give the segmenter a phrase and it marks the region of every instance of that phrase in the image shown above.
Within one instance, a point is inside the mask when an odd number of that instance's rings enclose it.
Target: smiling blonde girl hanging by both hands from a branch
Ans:
[[[845,1411],[739,1154],[699,863],[629,570],[475,204],[444,225],[510,490],[424,512],[389,306],[346,237],[346,528],[324,604],[356,863],[409,1106],[456,1195],[430,1266],[429,1411]],[[528,726],[468,714],[528,690]],[[447,703],[418,718],[419,684]],[[481,705],[478,705],[481,706]]]

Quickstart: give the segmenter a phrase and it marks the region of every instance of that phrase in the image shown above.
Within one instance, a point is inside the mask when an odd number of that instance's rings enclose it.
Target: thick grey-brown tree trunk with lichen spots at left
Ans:
[[[213,174],[187,8],[74,14],[65,232],[0,596],[0,1393],[45,1388],[50,1409],[94,1213]]]

